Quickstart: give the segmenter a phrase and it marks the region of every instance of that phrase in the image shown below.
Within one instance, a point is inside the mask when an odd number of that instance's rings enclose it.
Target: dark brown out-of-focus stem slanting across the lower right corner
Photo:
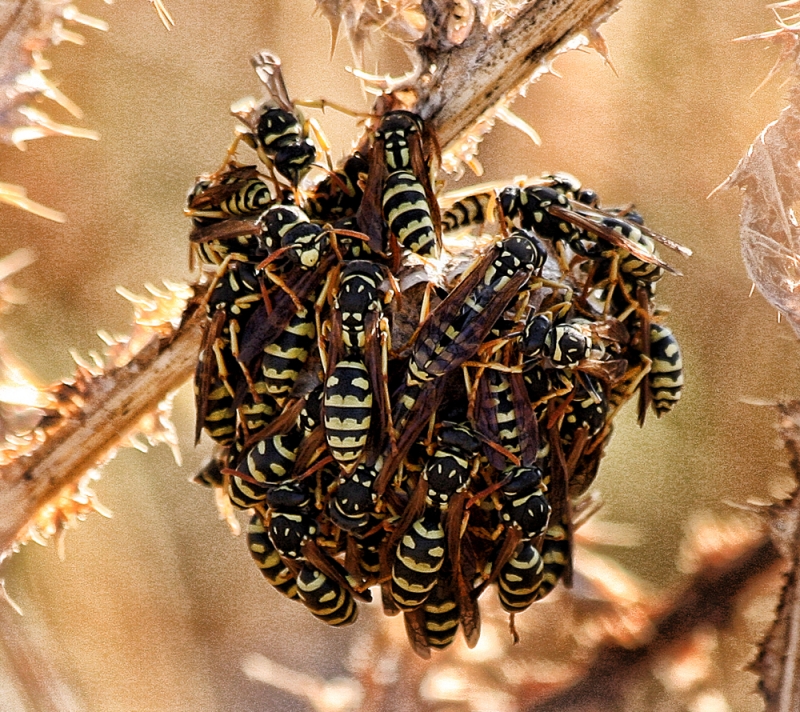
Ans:
[[[637,648],[609,646],[598,651],[591,667],[572,687],[529,708],[528,712],[594,712],[624,709],[628,683],[647,674],[657,657],[685,641],[701,626],[724,627],[736,597],[748,583],[780,560],[764,536],[738,558],[721,566],[706,566],[653,621],[653,636]]]

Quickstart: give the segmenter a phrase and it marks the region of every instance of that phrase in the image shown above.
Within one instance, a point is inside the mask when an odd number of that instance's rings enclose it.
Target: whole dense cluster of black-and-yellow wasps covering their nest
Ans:
[[[208,275],[198,481],[252,512],[264,577],[324,622],[380,586],[421,654],[480,631],[495,587],[515,614],[571,576],[572,503],[612,420],[682,388],[659,323],[670,268],[633,210],[565,174],[440,208],[436,143],[404,110],[317,182],[317,150],[269,53],[270,98],[189,195]],[[315,169],[318,170],[318,169]]]

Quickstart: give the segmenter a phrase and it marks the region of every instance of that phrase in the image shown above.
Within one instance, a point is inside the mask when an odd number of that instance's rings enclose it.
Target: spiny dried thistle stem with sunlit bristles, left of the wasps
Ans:
[[[91,360],[74,355],[72,379],[37,389],[44,415],[35,427],[6,438],[0,551],[58,535],[91,511],[105,513],[89,484],[120,447],[145,450],[163,442],[180,462],[169,414],[175,389],[194,365],[200,331],[191,316],[181,323],[191,288],[165,287],[148,286],[148,297],[123,290],[134,304],[131,334],[101,332],[105,353]],[[145,371],[150,388],[141,384]]]

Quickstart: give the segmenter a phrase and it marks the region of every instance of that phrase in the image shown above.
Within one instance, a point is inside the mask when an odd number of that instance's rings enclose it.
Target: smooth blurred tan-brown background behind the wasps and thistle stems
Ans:
[[[111,29],[86,29],[85,47],[50,51],[49,76],[83,109],[79,125],[102,139],[44,139],[25,153],[0,147],[2,180],[68,215],[59,225],[0,206],[0,255],[25,246],[37,258],[14,279],[26,303],[0,328],[44,382],[71,373],[69,349],[100,348],[97,330],[129,329],[131,308],[115,287],[141,292],[145,282],[189,278],[185,195],[224,157],[235,125],[231,102],[259,95],[253,52],[281,56],[295,97],[369,107],[345,71],[353,64],[346,41],[329,59],[330,29],[311,0],[167,6],[176,21],[171,33],[145,2],[81,0],[83,12]],[[683,400],[641,430],[629,406],[594,485],[606,502],[600,518],[638,531],[637,546],[604,553],[654,589],[680,580],[681,542],[698,517],[726,516],[727,502],[786,489],[775,412],[743,401],[798,395],[797,340],[763,299],[748,299],[738,195],[706,198],[783,106],[780,79],[751,96],[778,49],[732,42],[769,29],[761,2],[625,0],[603,27],[617,73],[593,53],[560,57],[560,76],[545,76],[513,107],[543,145],[498,125],[480,153],[486,174],[473,179],[568,171],[606,204],[635,203],[648,225],[696,252],[689,261],[673,257],[686,276],[659,286],[659,304],[671,307],[668,324],[683,347]],[[370,71],[408,69],[391,42],[366,56]],[[58,107],[50,113],[71,123]],[[335,112],[318,118],[335,157],[348,153],[358,135],[354,120]],[[25,613],[4,620],[46,652],[71,690],[71,708],[309,710],[301,697],[249,679],[245,659],[262,654],[336,678],[378,625],[379,609],[371,607],[353,628],[330,630],[262,580],[243,537],[218,520],[210,492],[188,481],[210,452],[208,440],[192,445],[193,411],[185,387],[174,413],[182,467],[163,446],[121,452],[95,487],[112,519],[93,515],[70,532],[63,562],[54,546],[31,544],[3,567]],[[745,613],[717,643],[717,682],[728,707],[703,712],[760,708],[756,678],[743,668],[771,611]],[[521,620],[541,615],[534,606]],[[391,627],[402,635],[399,621]],[[476,664],[499,675],[508,648],[504,634]],[[10,654],[0,654],[0,707],[37,709],[26,706]],[[492,704],[486,709],[515,709]],[[468,709],[429,705],[422,708]]]

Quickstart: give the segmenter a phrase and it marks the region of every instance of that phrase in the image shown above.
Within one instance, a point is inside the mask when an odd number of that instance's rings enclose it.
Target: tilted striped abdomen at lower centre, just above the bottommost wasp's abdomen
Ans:
[[[417,519],[397,545],[392,597],[403,610],[421,606],[439,578],[445,555],[441,514],[433,507]]]

